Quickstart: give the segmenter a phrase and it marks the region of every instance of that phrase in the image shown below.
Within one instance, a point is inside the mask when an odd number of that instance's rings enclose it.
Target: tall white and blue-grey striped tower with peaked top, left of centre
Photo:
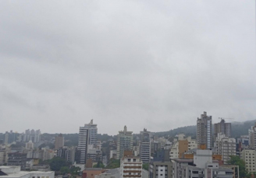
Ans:
[[[86,163],[89,145],[95,145],[97,143],[97,134],[97,124],[94,124],[93,120],[91,120],[89,124],[84,124],[84,127],[80,127],[77,147],[80,156],[79,159],[76,160],[76,163]]]

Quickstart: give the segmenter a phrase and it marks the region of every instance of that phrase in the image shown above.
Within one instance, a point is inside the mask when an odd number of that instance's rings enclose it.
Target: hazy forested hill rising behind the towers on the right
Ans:
[[[232,137],[238,138],[240,135],[248,134],[248,129],[251,128],[255,124],[256,120],[248,120],[245,122],[233,122],[232,123]],[[186,127],[178,127],[175,129],[172,129],[170,131],[162,131],[162,132],[156,132],[155,134],[158,135],[158,137],[175,137],[176,134],[183,133],[187,136],[192,136],[192,138],[196,138],[196,130],[197,126],[186,126]],[[212,124],[212,131],[213,130],[213,124]]]

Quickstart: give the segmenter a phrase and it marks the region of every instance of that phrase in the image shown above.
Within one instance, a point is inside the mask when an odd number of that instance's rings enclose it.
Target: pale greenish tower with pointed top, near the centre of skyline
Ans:
[[[127,127],[125,126],[123,131],[119,131],[117,135],[117,159],[122,159],[124,151],[130,150],[133,150],[133,132],[127,131]]]

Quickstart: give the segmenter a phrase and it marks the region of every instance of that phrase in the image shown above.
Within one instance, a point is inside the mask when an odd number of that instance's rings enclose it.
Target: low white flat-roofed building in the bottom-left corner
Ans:
[[[54,178],[55,172],[20,171],[20,166],[0,166],[0,178]]]

